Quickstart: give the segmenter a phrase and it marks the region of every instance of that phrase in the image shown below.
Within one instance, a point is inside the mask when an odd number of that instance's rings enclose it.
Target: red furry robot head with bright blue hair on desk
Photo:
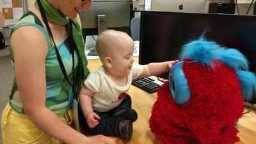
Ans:
[[[166,144],[239,141],[234,125],[256,90],[246,58],[201,38],[183,47],[180,60],[157,92],[151,131]]]

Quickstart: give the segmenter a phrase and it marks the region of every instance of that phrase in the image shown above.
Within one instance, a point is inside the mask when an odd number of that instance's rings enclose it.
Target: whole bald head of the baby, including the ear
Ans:
[[[131,68],[134,43],[127,33],[115,30],[102,32],[97,38],[96,49],[105,68],[118,68],[118,65],[124,69]]]

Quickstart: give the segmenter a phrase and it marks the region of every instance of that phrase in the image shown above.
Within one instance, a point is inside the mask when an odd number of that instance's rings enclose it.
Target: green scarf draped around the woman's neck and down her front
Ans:
[[[60,11],[56,10],[47,0],[40,0],[40,2],[42,3],[42,7],[44,8],[47,20],[63,26],[69,24],[68,17],[63,15],[63,13],[61,13]],[[39,10],[37,2],[35,3],[35,6]],[[75,89],[74,92],[77,93],[78,97],[83,81],[86,79],[90,72],[87,68],[87,59],[84,54],[84,40],[81,28],[76,20],[72,21],[73,40],[78,50],[78,64],[74,72],[73,84]]]

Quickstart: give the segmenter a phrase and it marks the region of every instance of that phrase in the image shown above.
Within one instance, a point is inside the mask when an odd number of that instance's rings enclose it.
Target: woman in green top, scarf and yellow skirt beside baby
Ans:
[[[72,100],[89,73],[77,13],[91,6],[92,0],[37,0],[14,26],[15,79],[2,114],[4,144],[115,143],[72,128]]]

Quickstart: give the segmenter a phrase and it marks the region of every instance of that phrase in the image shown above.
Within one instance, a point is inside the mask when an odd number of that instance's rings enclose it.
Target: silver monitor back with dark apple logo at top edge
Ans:
[[[151,0],[151,11],[207,13],[207,0]]]

